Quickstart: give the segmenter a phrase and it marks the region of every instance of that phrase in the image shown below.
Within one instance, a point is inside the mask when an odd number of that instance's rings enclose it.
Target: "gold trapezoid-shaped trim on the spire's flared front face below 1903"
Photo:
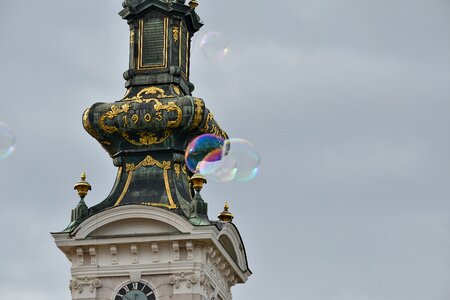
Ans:
[[[114,206],[118,206],[122,202],[123,198],[125,197],[125,195],[128,191],[128,188],[130,187],[131,180],[133,178],[133,172],[137,171],[138,169],[140,169],[142,167],[150,167],[150,166],[157,166],[158,168],[164,170],[164,185],[165,185],[165,189],[166,189],[167,198],[169,200],[169,204],[152,203],[152,202],[145,202],[142,204],[151,205],[151,206],[162,206],[162,207],[167,207],[169,209],[177,208],[177,205],[173,201],[172,193],[170,191],[170,185],[169,185],[168,171],[171,168],[171,162],[170,161],[159,162],[158,160],[154,159],[150,155],[147,155],[147,157],[143,161],[141,161],[138,165],[135,165],[133,163],[126,164],[126,171],[128,172],[127,181],[125,183],[122,193],[120,194],[120,196],[117,199]]]

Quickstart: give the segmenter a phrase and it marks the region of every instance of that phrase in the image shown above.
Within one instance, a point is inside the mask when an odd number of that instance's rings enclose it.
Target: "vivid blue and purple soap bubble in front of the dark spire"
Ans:
[[[185,161],[188,169],[198,173],[198,164],[201,161],[214,162],[222,158],[224,139],[214,134],[203,134],[193,139],[185,152]],[[215,153],[216,155],[212,155]]]

